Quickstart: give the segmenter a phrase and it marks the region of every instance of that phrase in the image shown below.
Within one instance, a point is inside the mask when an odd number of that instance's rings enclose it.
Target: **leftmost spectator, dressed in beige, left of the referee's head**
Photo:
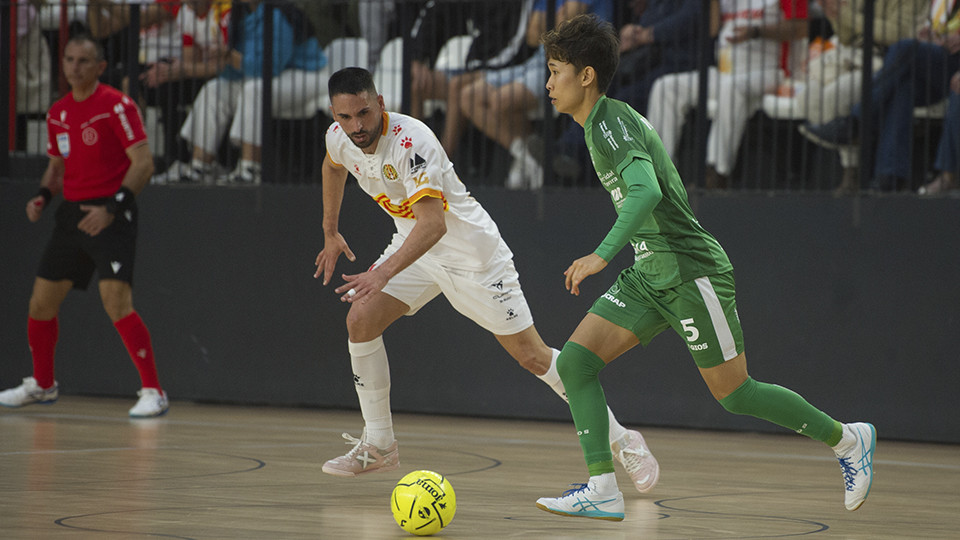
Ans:
[[[53,98],[50,47],[38,19],[42,0],[17,5],[17,114],[44,113]]]

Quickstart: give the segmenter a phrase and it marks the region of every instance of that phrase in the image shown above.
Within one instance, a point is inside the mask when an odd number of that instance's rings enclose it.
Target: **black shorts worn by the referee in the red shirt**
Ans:
[[[133,284],[133,260],[137,248],[136,201],[129,207],[127,215],[118,215],[96,236],[77,228],[86,215],[80,210],[81,204],[99,205],[107,200],[60,203],[53,235],[40,259],[37,277],[50,281],[69,279],[73,288],[86,290],[96,270],[100,279]]]

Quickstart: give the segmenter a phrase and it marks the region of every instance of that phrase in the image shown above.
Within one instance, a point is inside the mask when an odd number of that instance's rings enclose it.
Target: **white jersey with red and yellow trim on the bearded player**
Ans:
[[[360,187],[389,214],[406,239],[416,225],[411,206],[423,197],[443,201],[447,233],[424,254],[449,268],[479,271],[512,258],[497,224],[470,196],[453,163],[423,122],[383,113],[383,131],[373,154],[365,154],[338,122],[327,129],[327,155],[346,168]]]

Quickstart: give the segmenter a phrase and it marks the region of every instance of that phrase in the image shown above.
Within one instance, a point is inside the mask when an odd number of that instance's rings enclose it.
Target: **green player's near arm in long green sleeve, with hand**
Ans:
[[[579,295],[580,283],[606,268],[607,263],[627,245],[663,198],[657,174],[648,160],[632,159],[620,172],[620,177],[627,184],[627,194],[617,221],[593,253],[573,261],[563,273],[566,276],[564,285],[570,294]]]

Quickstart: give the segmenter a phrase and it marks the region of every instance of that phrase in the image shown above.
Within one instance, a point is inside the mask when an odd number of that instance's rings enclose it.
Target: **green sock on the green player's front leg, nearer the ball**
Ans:
[[[583,345],[568,341],[557,358],[557,373],[570,403],[573,424],[590,476],[613,472],[607,400],[600,386],[603,360]]]

